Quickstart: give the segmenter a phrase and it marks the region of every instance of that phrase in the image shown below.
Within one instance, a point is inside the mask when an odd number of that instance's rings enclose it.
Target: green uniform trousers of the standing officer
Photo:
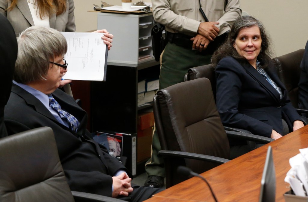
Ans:
[[[193,51],[174,43],[167,43],[160,55],[160,78],[159,88],[164,89],[176,83],[184,81],[184,75],[189,68],[210,64],[212,55],[206,51]],[[151,147],[151,158],[145,164],[148,176],[165,177],[164,159],[157,156],[160,151],[158,134],[154,128]]]

